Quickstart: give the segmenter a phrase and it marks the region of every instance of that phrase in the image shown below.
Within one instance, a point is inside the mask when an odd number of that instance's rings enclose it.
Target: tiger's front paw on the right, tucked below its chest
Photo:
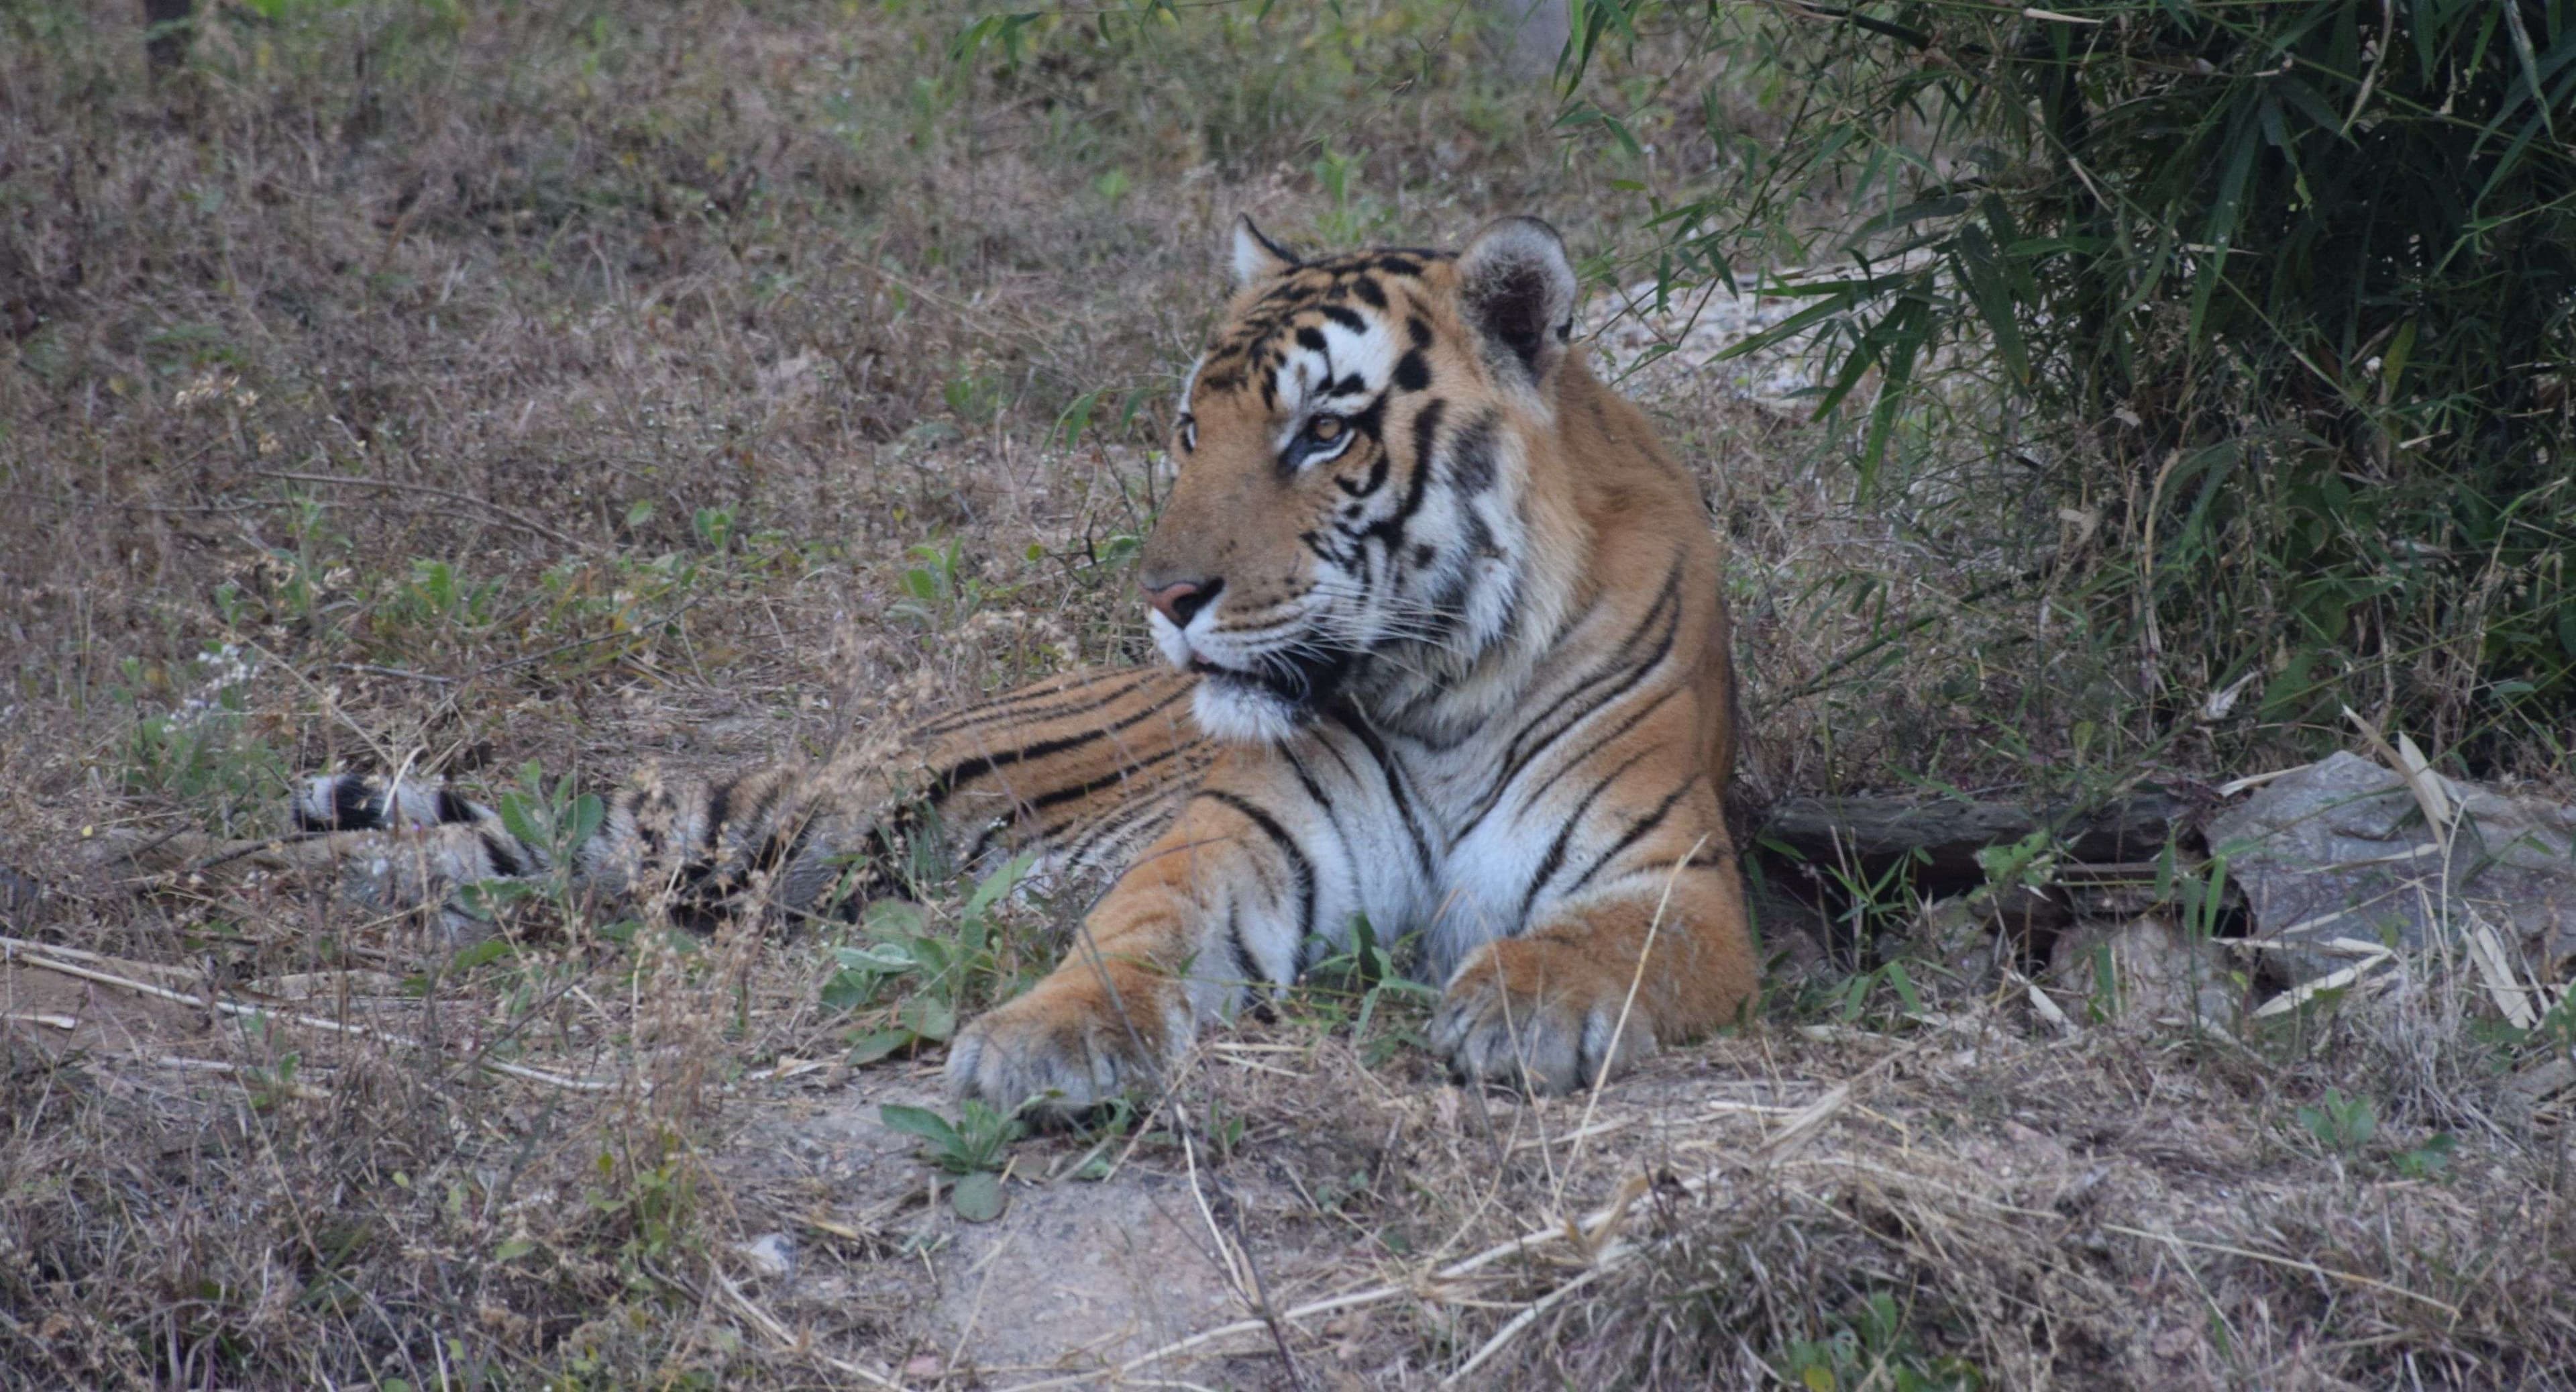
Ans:
[[[1654,1052],[1643,1000],[1620,1029],[1633,964],[1592,962],[1577,943],[1502,938],[1468,954],[1432,1016],[1430,1044],[1461,1080],[1571,1093]]]

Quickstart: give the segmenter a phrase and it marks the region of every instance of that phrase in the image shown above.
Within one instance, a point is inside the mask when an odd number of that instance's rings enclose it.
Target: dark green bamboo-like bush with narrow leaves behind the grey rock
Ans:
[[[2094,518],[2069,590],[2159,722],[2246,673],[2272,724],[2576,711],[2576,0],[1672,10],[1721,75],[1667,286],[1839,206],[1850,273],[1736,351],[1819,335],[1865,485],[2009,454]]]

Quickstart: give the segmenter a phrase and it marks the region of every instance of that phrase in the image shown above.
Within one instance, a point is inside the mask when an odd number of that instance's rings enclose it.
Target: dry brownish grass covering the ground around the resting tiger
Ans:
[[[845,1062],[899,1000],[819,1003],[837,938],[533,902],[459,954],[82,869],[113,827],[265,830],[294,771],[744,763],[1133,657],[1236,209],[1620,247],[1613,180],[1687,160],[1561,144],[1448,5],[1280,10],[958,70],[909,5],[224,5],[157,77],[121,10],[0,15],[0,918],[39,943],[0,964],[8,1382],[1097,1379],[1368,1291],[1133,1377],[1425,1387],[1492,1343],[1471,1384],[2561,1379],[2566,1142],[2439,977],[2239,1047],[1927,972],[1945,1023],[1883,985],[1847,1016],[1783,967],[1759,1029],[1597,1103],[1448,1088],[1404,1000],[1316,990],[1126,1132],[1018,1142],[1015,1214],[961,1227],[876,1124],[940,1103],[927,1062]],[[1960,531],[2009,495],[1976,469],[1865,508],[1821,430],[1636,389],[1734,544],[1754,802],[2154,771],[2012,583],[2056,518]],[[1054,918],[1010,910],[961,1003]],[[2300,1121],[2329,1085],[2375,1137]],[[1084,1242],[1170,1304],[1061,1304]]]

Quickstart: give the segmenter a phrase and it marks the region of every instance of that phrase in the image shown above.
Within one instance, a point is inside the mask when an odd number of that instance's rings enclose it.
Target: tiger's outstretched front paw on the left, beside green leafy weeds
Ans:
[[[969,1023],[948,1047],[948,1085],[997,1111],[1043,1098],[1041,1111],[1077,1114],[1151,1083],[1188,1044],[1175,982],[1069,964]]]

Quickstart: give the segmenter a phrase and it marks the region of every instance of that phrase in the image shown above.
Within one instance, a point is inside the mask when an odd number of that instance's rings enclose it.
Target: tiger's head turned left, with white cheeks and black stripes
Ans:
[[[1144,544],[1154,642],[1198,724],[1273,742],[1334,701],[1437,706],[1551,632],[1553,459],[1574,268],[1546,222],[1466,250],[1296,260],[1234,227],[1234,299],[1172,423]]]

